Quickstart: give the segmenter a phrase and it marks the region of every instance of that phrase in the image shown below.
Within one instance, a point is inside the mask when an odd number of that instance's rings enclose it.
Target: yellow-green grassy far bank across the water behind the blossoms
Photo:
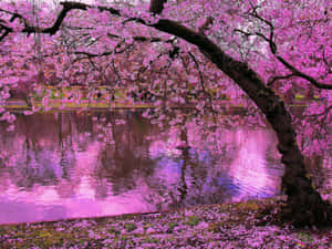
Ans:
[[[53,86],[44,86],[40,94],[32,94],[28,100],[22,98],[9,98],[6,101],[4,107],[8,110],[31,110],[43,108],[43,110],[77,110],[77,108],[153,108],[155,107],[154,102],[148,100],[136,101],[135,103],[127,100],[126,89],[116,89],[113,91],[113,97],[111,97],[110,90],[105,87],[98,87],[94,90],[94,93],[90,93],[89,90],[82,87],[62,87],[56,89]],[[100,96],[97,94],[101,94]],[[46,102],[43,102],[43,97],[48,96]],[[198,100],[193,96],[187,96],[188,103],[177,103],[167,101],[166,105],[169,107],[186,107],[193,108],[197,105]],[[79,101],[74,101],[79,100]],[[297,94],[294,101],[290,106],[305,106],[312,101],[320,101],[318,96],[312,100],[307,100],[304,95]],[[28,105],[28,102],[30,105]],[[231,105],[231,100],[228,96],[224,96],[219,100],[214,100],[214,104],[218,105]],[[231,108],[243,108],[243,105],[231,105]]]

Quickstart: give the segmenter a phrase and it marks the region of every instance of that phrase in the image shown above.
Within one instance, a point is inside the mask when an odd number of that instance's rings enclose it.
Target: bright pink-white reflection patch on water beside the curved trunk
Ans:
[[[267,152],[277,144],[272,131],[238,129],[235,133],[235,144],[238,151],[229,167],[229,175],[242,191],[231,200],[261,197],[262,190],[266,196],[276,195],[281,184],[280,172],[271,175],[271,165],[267,168]]]

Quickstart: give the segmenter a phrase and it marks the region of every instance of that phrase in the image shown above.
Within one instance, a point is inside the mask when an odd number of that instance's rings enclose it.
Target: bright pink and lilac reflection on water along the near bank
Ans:
[[[75,195],[62,198],[54,186],[35,185],[31,191],[13,184],[0,195],[0,224],[31,222],[63,218],[97,217],[132,212],[146,212],[155,207],[142,198],[146,186],[127,191],[125,195],[95,199],[95,189],[87,177],[82,177]],[[1,205],[6,203],[6,205]],[[128,205],[129,204],[129,205]]]

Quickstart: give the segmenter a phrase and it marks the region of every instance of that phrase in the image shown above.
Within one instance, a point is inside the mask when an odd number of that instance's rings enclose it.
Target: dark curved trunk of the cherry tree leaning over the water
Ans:
[[[292,127],[291,116],[282,100],[267,87],[259,75],[245,62],[227,55],[217,44],[204,34],[169,20],[159,20],[154,24],[157,30],[175,34],[198,49],[218,69],[235,81],[266,115],[278,136],[278,149],[286,166],[282,189],[288,196],[289,217],[297,226],[330,225],[332,222],[331,205],[324,201],[307,176],[304,158],[297,144],[297,134]]]

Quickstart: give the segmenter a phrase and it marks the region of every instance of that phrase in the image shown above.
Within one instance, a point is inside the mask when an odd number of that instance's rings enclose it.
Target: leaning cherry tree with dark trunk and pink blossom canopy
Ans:
[[[146,82],[159,120],[170,113],[167,101],[194,100],[212,126],[227,95],[252,111],[247,122],[263,117],[274,129],[294,224],[328,224],[331,206],[303,155],[331,149],[331,15],[328,0],[2,2],[1,101],[40,73],[59,86],[108,82],[136,93]],[[308,98],[294,115],[299,94]]]

